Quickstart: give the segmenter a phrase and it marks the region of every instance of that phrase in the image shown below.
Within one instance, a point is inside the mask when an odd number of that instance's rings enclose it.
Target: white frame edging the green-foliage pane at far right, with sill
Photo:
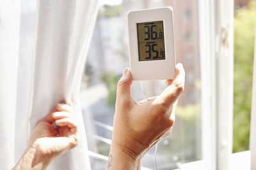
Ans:
[[[234,82],[234,0],[216,1],[216,169],[256,169],[255,57],[250,150],[232,153]],[[256,42],[256,41],[255,41]],[[256,53],[256,49],[255,49]],[[254,145],[253,145],[254,143]],[[252,157],[251,157],[252,153]],[[254,160],[254,161],[253,161]],[[252,164],[251,164],[252,163]]]

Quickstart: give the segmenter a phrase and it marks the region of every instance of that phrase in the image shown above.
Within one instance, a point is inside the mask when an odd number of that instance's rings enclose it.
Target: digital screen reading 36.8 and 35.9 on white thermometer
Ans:
[[[164,60],[164,25],[162,21],[137,24],[139,61]]]

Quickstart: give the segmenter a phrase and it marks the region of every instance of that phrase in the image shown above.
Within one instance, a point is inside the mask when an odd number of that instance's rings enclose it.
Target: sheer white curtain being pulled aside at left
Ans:
[[[0,161],[10,169],[56,103],[74,103],[79,146],[49,169],[90,169],[79,91],[95,0],[0,0]]]

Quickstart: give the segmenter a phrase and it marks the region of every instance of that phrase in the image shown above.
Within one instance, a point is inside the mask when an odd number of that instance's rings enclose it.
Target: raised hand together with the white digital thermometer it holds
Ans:
[[[106,169],[140,169],[143,155],[170,134],[184,89],[182,64],[175,67],[172,8],[131,11],[128,24],[131,71],[125,68],[118,82]],[[131,96],[133,80],[168,80],[168,87],[160,96],[137,103]]]

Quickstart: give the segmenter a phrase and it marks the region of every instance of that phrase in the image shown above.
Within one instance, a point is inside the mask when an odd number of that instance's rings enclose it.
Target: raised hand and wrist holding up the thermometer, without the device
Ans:
[[[170,134],[177,100],[184,90],[185,73],[177,64],[173,80],[160,96],[137,103],[131,96],[128,68],[118,82],[114,129],[106,169],[140,169],[140,160],[156,142]]]

